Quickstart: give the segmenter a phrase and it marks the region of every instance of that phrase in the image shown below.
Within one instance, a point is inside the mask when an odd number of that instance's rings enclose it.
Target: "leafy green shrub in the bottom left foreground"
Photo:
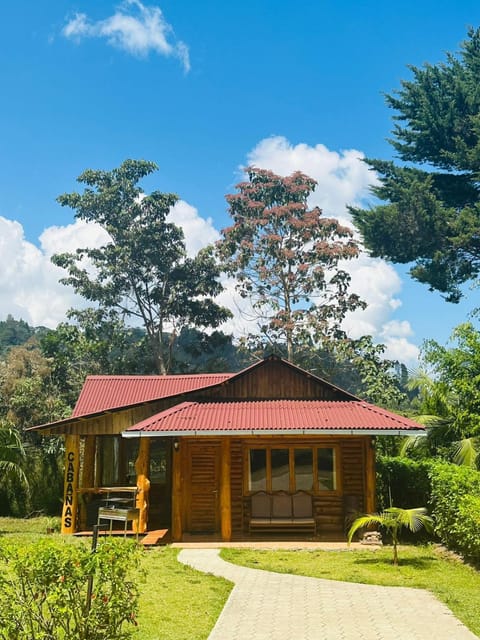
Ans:
[[[135,543],[112,538],[95,553],[65,541],[21,547],[0,541],[0,638],[130,637],[138,603],[131,574],[138,554]],[[87,602],[89,577],[93,589]]]

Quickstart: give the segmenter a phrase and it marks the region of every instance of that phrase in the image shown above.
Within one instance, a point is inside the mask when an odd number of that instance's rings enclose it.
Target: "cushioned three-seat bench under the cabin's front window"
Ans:
[[[259,491],[251,497],[250,532],[297,531],[316,533],[312,496],[304,491],[290,494]]]

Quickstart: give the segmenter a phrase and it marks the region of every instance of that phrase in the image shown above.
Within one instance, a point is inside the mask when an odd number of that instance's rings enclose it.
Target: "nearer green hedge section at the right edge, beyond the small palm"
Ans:
[[[469,467],[431,467],[435,532],[449,548],[480,562],[480,473]]]

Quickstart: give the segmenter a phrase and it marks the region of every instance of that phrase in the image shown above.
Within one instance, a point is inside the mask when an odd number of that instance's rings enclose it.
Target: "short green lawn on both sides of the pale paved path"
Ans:
[[[0,518],[0,536],[14,538],[21,544],[46,536],[47,527],[52,524],[51,518]],[[78,543],[73,536],[58,537]],[[177,553],[171,547],[158,547],[143,555],[135,640],[206,639],[228,598],[231,583],[180,564]],[[392,565],[390,547],[378,551],[223,549],[222,557],[229,562],[281,573],[429,589],[480,636],[480,572],[442,556],[433,546],[401,547],[398,567]]]

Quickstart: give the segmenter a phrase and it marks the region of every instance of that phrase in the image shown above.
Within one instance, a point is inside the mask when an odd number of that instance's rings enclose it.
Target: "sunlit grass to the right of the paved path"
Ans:
[[[372,551],[259,551],[223,549],[228,562],[254,569],[328,580],[428,589],[480,636],[480,572],[433,545],[402,546],[400,564],[389,547]]]

